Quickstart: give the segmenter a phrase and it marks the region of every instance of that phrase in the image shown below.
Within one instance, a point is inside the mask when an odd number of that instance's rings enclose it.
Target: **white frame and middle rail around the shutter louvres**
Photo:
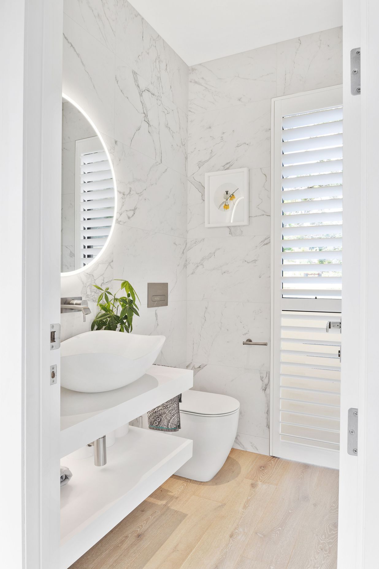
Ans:
[[[280,242],[281,236],[277,229],[277,222],[281,220],[281,201],[277,199],[282,192],[282,139],[276,133],[281,130],[283,113],[296,113],[309,110],[311,108],[322,108],[341,104],[342,86],[335,85],[323,89],[315,89],[304,93],[295,93],[271,99],[271,332],[270,332],[270,455],[282,456],[279,445],[279,397],[277,393],[280,389],[278,380],[280,368],[280,315],[282,310],[304,310],[304,311],[330,311],[340,312],[341,301],[333,299],[309,299],[297,300],[294,306],[294,299],[282,299],[281,279],[277,277],[277,269],[281,266],[280,262]],[[280,192],[280,193],[279,193]],[[317,302],[317,306],[315,303]],[[286,457],[290,458],[288,449],[291,443],[286,443]],[[294,457],[299,454],[295,443],[293,444]],[[303,447],[302,447],[303,448]],[[315,451],[314,451],[315,452]],[[324,456],[325,455],[325,456]],[[304,459],[305,460],[305,453]],[[328,458],[333,456],[331,462]],[[335,455],[330,452],[320,452],[320,460],[325,465],[336,466]]]

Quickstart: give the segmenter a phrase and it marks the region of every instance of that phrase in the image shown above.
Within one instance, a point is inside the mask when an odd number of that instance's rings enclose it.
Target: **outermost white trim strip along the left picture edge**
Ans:
[[[14,569],[22,568],[25,555],[22,402],[24,17],[24,0],[0,3],[0,192],[3,210],[0,290],[3,302],[9,296],[15,299],[6,325],[3,323],[0,327],[0,430],[3,434],[0,551],[2,566]]]

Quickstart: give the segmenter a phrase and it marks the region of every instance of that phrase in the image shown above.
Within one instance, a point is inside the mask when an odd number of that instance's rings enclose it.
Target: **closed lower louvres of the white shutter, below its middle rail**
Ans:
[[[279,392],[282,456],[304,460],[304,447],[338,464],[340,440],[340,335],[326,333],[340,314],[283,311]],[[289,453],[289,454],[288,454]],[[308,455],[307,455],[308,456]]]

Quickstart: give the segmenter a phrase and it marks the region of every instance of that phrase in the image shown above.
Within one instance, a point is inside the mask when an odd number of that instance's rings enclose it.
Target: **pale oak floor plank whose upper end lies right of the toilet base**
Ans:
[[[275,486],[244,479],[181,569],[234,567]]]

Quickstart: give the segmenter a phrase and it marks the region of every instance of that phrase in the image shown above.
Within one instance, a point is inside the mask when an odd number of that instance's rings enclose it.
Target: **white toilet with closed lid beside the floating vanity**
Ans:
[[[176,475],[208,482],[219,472],[236,438],[239,410],[228,395],[192,389],[182,394],[181,428],[172,434],[192,439],[193,454]]]

